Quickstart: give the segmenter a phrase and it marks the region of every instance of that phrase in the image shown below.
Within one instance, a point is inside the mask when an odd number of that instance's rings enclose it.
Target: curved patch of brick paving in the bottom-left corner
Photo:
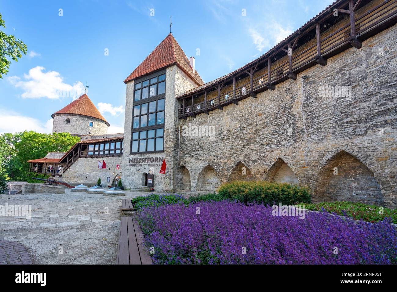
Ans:
[[[19,242],[0,239],[0,265],[29,265],[31,254],[26,246]]]

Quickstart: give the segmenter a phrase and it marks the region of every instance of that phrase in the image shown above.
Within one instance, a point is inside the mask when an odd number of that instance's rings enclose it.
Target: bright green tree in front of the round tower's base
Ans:
[[[28,160],[43,158],[48,152],[67,152],[80,138],[69,133],[42,134],[25,131],[14,135],[13,145],[21,171],[29,171]]]

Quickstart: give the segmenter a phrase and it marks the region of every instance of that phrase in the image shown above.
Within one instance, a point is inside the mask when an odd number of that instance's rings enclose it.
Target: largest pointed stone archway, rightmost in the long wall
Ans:
[[[383,204],[382,191],[374,173],[344,150],[329,158],[318,173],[313,199],[317,202],[337,200]]]

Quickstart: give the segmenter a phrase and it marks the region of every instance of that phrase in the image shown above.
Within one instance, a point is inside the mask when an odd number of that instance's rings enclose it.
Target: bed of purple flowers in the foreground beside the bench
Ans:
[[[200,207],[200,215],[196,214]],[[391,264],[397,232],[386,221],[353,223],[326,213],[272,216],[262,205],[221,201],[143,209],[154,263]],[[243,254],[243,247],[246,254]],[[334,254],[337,247],[337,254]]]

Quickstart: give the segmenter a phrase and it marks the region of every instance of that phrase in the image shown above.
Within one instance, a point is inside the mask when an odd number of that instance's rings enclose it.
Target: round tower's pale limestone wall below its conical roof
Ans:
[[[70,122],[66,123],[66,119]],[[93,122],[93,127],[89,123]],[[60,114],[54,116],[52,132],[75,135],[102,135],[108,133],[108,125],[99,119],[83,115]]]

